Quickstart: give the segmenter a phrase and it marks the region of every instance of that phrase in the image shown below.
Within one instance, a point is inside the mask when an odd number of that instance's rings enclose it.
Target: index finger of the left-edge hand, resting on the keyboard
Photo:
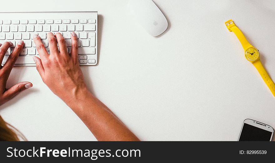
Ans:
[[[22,40],[20,40],[17,43],[12,53],[9,55],[6,63],[2,67],[3,71],[7,71],[8,74],[12,71],[12,67],[14,66],[20,52],[22,51],[23,45],[24,45],[24,42]]]

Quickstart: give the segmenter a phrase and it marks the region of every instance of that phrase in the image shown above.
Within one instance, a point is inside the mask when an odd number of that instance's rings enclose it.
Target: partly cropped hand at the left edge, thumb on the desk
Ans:
[[[0,65],[0,105],[12,99],[12,97],[17,95],[19,92],[32,87],[32,83],[30,82],[20,82],[15,86],[12,86],[11,88],[6,88],[8,77],[12,71],[14,63],[17,60],[17,57],[19,56],[23,48],[23,45],[24,42],[19,41],[14,50],[12,51],[12,53],[9,55],[6,63],[3,66]],[[0,44],[0,63],[2,63],[4,56],[8,51],[8,48],[11,46],[11,42],[5,42],[4,44]]]

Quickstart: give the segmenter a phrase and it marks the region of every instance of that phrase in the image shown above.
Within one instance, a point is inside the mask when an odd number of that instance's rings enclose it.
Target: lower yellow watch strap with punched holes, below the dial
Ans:
[[[256,67],[258,72],[260,73],[263,81],[266,83],[270,91],[272,92],[273,96],[275,96],[275,84],[272,82],[271,78],[265,71],[264,67],[262,66],[262,63],[260,60],[253,63],[253,65]]]

